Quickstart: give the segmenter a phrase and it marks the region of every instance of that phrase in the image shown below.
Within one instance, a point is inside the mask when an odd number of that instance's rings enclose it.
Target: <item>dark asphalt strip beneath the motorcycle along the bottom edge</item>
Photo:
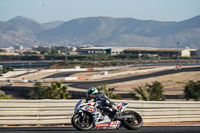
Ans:
[[[72,127],[0,127],[0,133],[200,133],[200,126],[144,126],[139,130],[77,131]]]

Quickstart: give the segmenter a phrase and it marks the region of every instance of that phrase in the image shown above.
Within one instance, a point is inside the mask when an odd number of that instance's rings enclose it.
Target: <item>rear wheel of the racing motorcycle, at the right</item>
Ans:
[[[123,114],[133,115],[134,118],[128,118],[127,120],[122,121],[122,125],[129,130],[137,130],[142,127],[143,120],[140,114],[135,111],[125,111]]]

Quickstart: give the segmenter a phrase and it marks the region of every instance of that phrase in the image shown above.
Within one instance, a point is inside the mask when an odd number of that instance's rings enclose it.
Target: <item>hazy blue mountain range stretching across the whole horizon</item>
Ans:
[[[89,17],[45,24],[21,16],[0,21],[0,47],[101,45],[200,48],[200,15],[180,22]]]

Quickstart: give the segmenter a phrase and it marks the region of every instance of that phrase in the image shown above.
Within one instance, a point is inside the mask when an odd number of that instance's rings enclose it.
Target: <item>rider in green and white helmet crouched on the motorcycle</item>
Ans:
[[[86,101],[88,102],[92,99],[94,100],[93,102],[99,102],[100,106],[102,107],[107,106],[112,108],[113,111],[110,112],[112,118],[115,118],[120,114],[119,109],[117,108],[115,103],[110,101],[110,99],[102,91],[99,91],[95,87],[89,88],[87,91]]]

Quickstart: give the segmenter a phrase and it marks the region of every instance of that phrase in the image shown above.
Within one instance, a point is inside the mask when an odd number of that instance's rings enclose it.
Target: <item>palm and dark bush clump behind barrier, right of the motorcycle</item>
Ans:
[[[138,88],[133,88],[133,98],[144,101],[164,101],[163,86],[160,82],[155,81],[152,84],[145,84]]]

